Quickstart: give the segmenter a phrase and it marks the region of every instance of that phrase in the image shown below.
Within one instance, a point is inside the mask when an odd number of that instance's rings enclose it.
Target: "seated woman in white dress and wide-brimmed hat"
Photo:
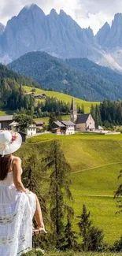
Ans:
[[[21,181],[21,160],[14,157],[22,143],[19,133],[0,132],[0,256],[20,256],[31,250],[32,219],[35,232],[45,232],[35,194]]]

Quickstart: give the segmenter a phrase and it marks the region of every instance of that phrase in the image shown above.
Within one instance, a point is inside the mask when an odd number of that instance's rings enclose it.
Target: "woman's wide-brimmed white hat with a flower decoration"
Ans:
[[[0,154],[12,154],[17,151],[22,143],[22,138],[18,132],[0,131]]]

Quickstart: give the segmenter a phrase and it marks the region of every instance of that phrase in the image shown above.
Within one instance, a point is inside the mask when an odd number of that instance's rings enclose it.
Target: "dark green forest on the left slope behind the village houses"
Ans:
[[[26,80],[25,80],[26,82]],[[43,102],[37,102],[34,95],[24,91],[24,87],[19,80],[5,78],[0,83],[0,107],[13,110],[17,113],[25,113],[31,117],[49,117],[50,113],[61,114],[70,113],[70,103],[57,100],[57,98],[46,97]],[[78,109],[82,113],[83,108]]]

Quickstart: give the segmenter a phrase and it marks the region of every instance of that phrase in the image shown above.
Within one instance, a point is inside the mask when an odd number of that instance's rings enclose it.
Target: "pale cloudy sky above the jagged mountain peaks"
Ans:
[[[122,0],[0,0],[0,22],[6,22],[17,16],[26,5],[37,4],[48,14],[50,9],[59,13],[63,9],[81,28],[93,29],[94,35],[107,21],[111,24],[116,13],[122,13]]]

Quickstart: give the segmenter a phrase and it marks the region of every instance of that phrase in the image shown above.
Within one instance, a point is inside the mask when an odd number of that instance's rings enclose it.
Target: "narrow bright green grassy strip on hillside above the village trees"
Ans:
[[[31,89],[32,89],[32,87],[24,86],[24,90],[27,91],[27,92],[31,91]],[[68,102],[71,103],[71,101],[72,101],[72,96],[65,95],[65,94],[57,92],[57,91],[44,91],[44,90],[41,90],[39,88],[35,88],[35,90],[36,90],[35,94],[44,93],[49,97],[54,97],[54,98],[59,99],[60,101],[64,101],[64,102],[67,102],[67,103]],[[83,104],[85,113],[90,113],[91,104],[94,104],[94,105],[99,104],[99,102],[87,102],[87,101],[84,101],[80,98],[74,98],[74,100],[75,100],[75,103],[76,103],[77,106],[82,106],[82,104]]]

